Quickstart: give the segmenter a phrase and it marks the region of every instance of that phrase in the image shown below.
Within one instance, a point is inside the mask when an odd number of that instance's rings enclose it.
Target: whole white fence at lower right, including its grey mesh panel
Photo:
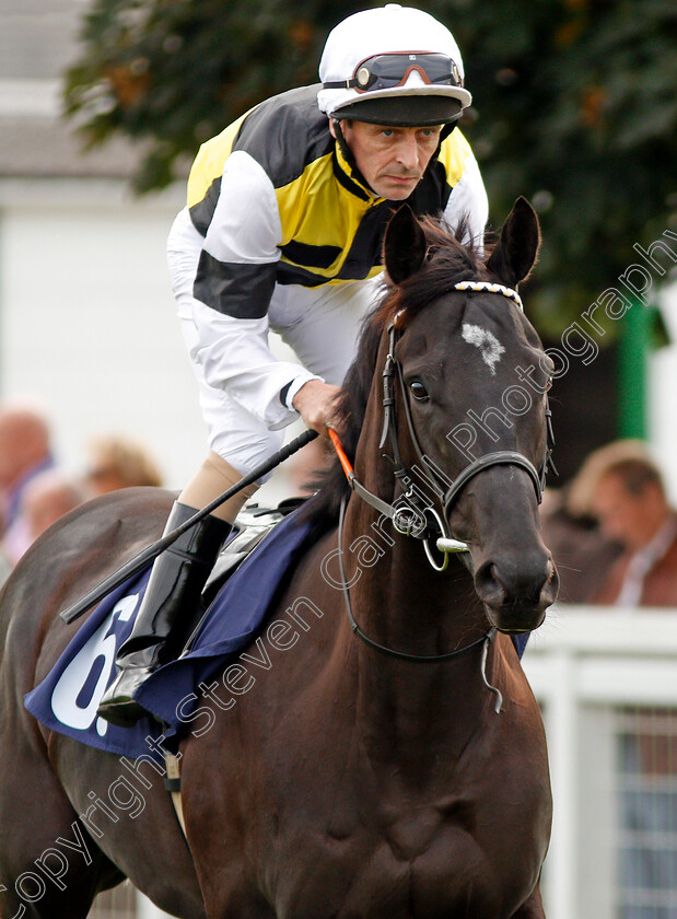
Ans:
[[[552,773],[548,919],[676,919],[677,610],[559,606],[523,664]]]

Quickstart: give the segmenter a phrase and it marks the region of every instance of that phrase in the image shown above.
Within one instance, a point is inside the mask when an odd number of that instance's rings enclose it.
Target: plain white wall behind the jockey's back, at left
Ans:
[[[0,183],[0,398],[45,408],[73,474],[101,432],[142,440],[172,488],[206,452],[165,261],[183,194],[139,201],[117,182]]]

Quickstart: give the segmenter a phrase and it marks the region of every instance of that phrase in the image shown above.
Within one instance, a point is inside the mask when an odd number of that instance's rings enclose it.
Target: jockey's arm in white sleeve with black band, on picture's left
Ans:
[[[234,153],[203,239],[183,214],[184,225],[179,214],[170,237],[170,263],[179,311],[189,310],[195,323],[194,360],[209,385],[227,389],[269,429],[283,428],[299,417],[293,400],[300,388],[322,381],[278,360],[268,346],[281,242],[271,182],[250,156]],[[186,257],[196,246],[197,264]]]

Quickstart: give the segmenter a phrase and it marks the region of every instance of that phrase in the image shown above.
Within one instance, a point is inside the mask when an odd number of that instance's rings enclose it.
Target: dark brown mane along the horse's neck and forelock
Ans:
[[[427,261],[419,271],[399,284],[394,284],[386,277],[385,293],[362,324],[357,353],[337,402],[337,416],[340,419],[337,430],[351,463],[354,463],[364,423],[384,329],[398,313],[397,325],[399,328],[405,327],[424,306],[447,293],[458,281],[488,279],[485,259],[477,245],[464,245],[460,242],[469,235],[465,220],[459,222],[454,232],[450,232],[440,220],[430,217],[423,218],[420,223],[428,244]],[[305,513],[316,523],[329,526],[338,519],[342,499],[350,493],[338,460],[318,474],[312,485],[318,491],[308,501]]]

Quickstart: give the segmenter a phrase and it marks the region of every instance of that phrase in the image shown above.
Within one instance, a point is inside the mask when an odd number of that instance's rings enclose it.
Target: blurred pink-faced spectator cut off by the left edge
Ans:
[[[24,489],[40,473],[51,468],[49,427],[35,408],[5,404],[0,408],[0,495],[3,508],[3,551],[10,563],[31,544],[21,512]]]

